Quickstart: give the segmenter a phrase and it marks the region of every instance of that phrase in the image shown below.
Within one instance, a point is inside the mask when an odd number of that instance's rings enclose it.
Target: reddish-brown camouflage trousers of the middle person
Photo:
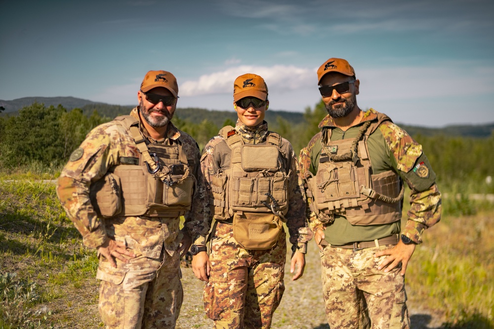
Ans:
[[[218,222],[213,234],[211,271],[204,288],[206,315],[216,329],[270,328],[285,292],[285,231],[269,250],[242,248],[229,223]]]

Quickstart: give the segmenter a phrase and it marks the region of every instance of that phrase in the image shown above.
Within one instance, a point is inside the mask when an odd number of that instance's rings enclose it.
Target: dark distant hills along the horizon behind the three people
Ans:
[[[45,106],[53,105],[55,107],[61,104],[67,110],[79,108],[86,115],[91,115],[94,110],[97,110],[101,116],[106,116],[109,118],[122,114],[128,114],[134,107],[130,105],[120,106],[97,103],[75,97],[24,97],[12,101],[0,100],[0,106],[5,109],[0,113],[0,116],[15,115],[20,109],[30,106],[34,102],[43,103]],[[206,110],[198,108],[178,108],[175,115],[182,120],[188,120],[196,124],[207,119],[212,121],[218,127],[220,127],[228,118],[233,121],[237,120],[237,114],[233,111]],[[266,120],[268,122],[276,122],[278,117],[288,121],[291,125],[300,124],[304,121],[304,116],[301,112],[289,112],[283,110],[269,110],[266,112]],[[482,138],[491,136],[494,131],[494,122],[483,125],[450,125],[443,128],[410,126],[400,124],[399,122],[398,125],[400,125],[400,127],[405,129],[412,136],[420,134],[423,136],[446,135]]]

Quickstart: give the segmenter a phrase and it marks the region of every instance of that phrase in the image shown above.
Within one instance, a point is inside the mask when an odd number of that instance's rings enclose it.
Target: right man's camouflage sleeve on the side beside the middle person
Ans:
[[[311,203],[312,199],[308,196],[308,186],[307,186],[307,180],[306,180],[306,173],[307,175],[316,174],[316,165],[315,161],[318,161],[319,159],[316,159],[316,154],[317,151],[314,152],[314,147],[318,146],[321,144],[321,132],[317,133],[309,142],[309,144],[302,148],[300,150],[300,156],[298,158],[298,163],[299,163],[299,182],[302,184],[302,190],[303,190],[303,195],[306,201],[306,218],[308,219],[309,222],[309,227],[312,230],[312,232],[315,232],[317,229],[322,228],[325,229],[325,224],[322,222],[314,213],[314,211],[311,210]],[[316,153],[316,154],[315,154]]]

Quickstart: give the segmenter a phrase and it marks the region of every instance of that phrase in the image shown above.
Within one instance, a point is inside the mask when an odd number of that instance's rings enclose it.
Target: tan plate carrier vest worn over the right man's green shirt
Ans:
[[[372,175],[367,140],[383,121],[365,122],[357,137],[330,141],[331,129],[323,128],[322,150],[316,176],[306,172],[312,198],[311,210],[323,222],[332,214],[344,216],[352,225],[391,223],[401,219],[404,186],[400,177],[388,170]],[[361,140],[363,138],[363,140]]]

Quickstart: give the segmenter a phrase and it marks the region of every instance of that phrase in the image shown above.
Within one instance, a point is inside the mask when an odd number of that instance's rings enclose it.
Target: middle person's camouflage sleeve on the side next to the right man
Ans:
[[[306,220],[306,202],[302,197],[299,184],[298,162],[290,143],[283,139],[287,148],[288,160],[288,213],[287,219],[290,243],[296,244],[299,252],[307,253],[307,242],[312,239],[312,231],[309,229]]]

